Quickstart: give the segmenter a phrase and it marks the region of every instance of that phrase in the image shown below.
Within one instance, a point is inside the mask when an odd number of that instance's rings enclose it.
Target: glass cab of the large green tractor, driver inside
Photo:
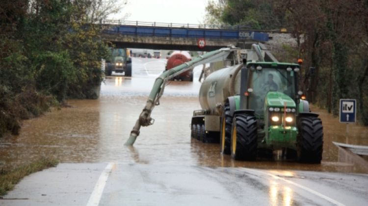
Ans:
[[[247,65],[248,98],[246,108],[255,111],[264,118],[264,107],[281,108],[287,103],[288,108],[296,108],[294,101],[297,91],[297,73],[299,65],[283,63],[250,63]]]

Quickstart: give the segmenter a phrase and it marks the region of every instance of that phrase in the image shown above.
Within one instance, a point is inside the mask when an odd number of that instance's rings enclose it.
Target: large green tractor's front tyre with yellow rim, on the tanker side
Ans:
[[[257,156],[257,119],[248,114],[233,118],[231,157],[235,160],[255,160]]]

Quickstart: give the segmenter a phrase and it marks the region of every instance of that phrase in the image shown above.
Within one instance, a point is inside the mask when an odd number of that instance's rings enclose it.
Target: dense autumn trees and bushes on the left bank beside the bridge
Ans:
[[[126,1],[123,1],[123,4]],[[0,0],[0,137],[54,99],[96,98],[107,43],[93,24],[116,12],[113,0]]]

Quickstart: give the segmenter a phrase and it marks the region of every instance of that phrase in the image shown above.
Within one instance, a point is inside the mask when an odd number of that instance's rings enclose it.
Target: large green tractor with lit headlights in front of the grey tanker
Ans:
[[[255,160],[260,151],[282,150],[287,158],[320,163],[323,127],[300,99],[298,64],[250,62],[240,71],[240,93],[225,99],[221,151]],[[213,73],[215,74],[215,73]]]

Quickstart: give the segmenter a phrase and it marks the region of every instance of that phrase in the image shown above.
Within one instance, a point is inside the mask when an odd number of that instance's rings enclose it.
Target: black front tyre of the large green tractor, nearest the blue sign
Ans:
[[[323,126],[318,117],[301,117],[298,123],[297,155],[300,162],[321,163]]]

